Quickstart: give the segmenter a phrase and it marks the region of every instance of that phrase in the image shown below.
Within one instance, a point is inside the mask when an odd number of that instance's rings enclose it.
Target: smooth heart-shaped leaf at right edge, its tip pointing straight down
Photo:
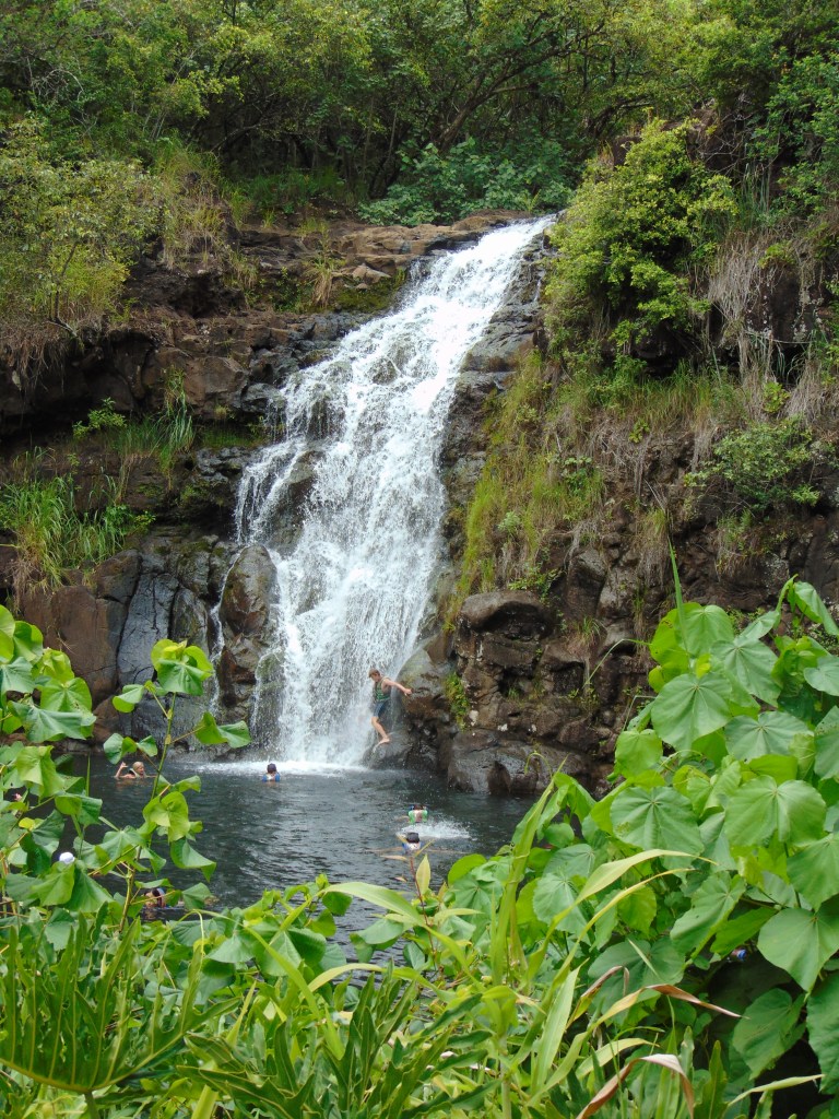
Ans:
[[[761,929],[757,947],[770,963],[810,990],[819,971],[839,951],[839,899],[816,913],[782,910]]]

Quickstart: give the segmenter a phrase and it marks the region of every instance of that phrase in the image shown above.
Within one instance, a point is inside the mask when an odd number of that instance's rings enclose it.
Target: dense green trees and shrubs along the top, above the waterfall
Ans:
[[[556,209],[587,158],[653,117],[706,121],[708,161],[741,206],[829,223],[836,22],[827,0],[11,0],[7,345],[113,313],[155,238],[176,258],[312,201],[407,223]],[[648,248],[689,266],[686,233]],[[620,276],[603,280],[614,290]]]

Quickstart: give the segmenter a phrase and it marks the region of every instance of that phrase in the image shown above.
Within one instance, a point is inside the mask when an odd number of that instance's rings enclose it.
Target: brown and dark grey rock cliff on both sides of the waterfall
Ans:
[[[336,224],[329,231],[329,252],[340,258],[333,293],[327,309],[308,313],[282,304],[322,254],[322,235],[314,242],[291,231],[243,237],[242,252],[262,278],[253,305],[211,265],[197,261],[172,272],[149,258],[133,278],[125,323],[87,339],[38,377],[0,370],[0,481],[11,457],[37,442],[51,448],[45,470],[73,470],[81,500],[103,469],[122,468],[126,499],[155,518],[136,547],[74,574],[56,591],[30,586],[20,602],[20,612],[49,643],[66,649],[89,681],[101,735],[119,718],[109,696],[150,675],[149,650],[162,637],[218,653],[217,702],[227,717],[248,716],[274,575],[264,549],[236,544],[233,510],[248,455],[270,434],[265,417],[282,420],[279,389],[290,372],[317,361],[369,313],[365,304],[386,302],[407,265],[507,218],[418,229]],[[609,772],[616,733],[644,693],[642,639],[671,593],[667,553],[662,542],[639,536],[633,498],[638,486],[653,487],[669,509],[684,510],[684,477],[695,459],[692,442],[680,433],[647,436],[633,476],[610,496],[607,530],[586,539],[573,526],[557,527],[547,563],[552,577],[540,594],[473,595],[453,623],[442,624],[463,510],[484,460],[486,402],[541,344],[538,282],[538,260],[526,261],[516,298],[464,364],[442,463],[450,563],[421,647],[402,673],[414,690],[403,702],[398,753],[408,764],[446,773],[454,786],[492,793],[534,791],[557,768],[593,788]],[[159,407],[176,375],[195,416],[208,425],[233,421],[243,433],[252,424],[248,438],[220,450],[198,446],[168,477],[150,458],[120,463],[104,442],[67,439],[69,422],[103,398],[125,413]],[[289,544],[309,481],[303,467],[290,487]],[[812,515],[773,524],[751,554],[736,560],[713,527],[714,509],[673,514],[686,596],[748,612],[771,603],[785,579],[800,573],[828,600],[839,600],[839,476],[822,489],[827,496]],[[0,590],[12,585],[10,544],[0,537]],[[141,705],[131,731],[147,733],[151,725],[153,713]]]

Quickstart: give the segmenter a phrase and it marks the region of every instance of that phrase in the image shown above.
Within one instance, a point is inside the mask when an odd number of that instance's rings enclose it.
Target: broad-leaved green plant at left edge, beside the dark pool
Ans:
[[[102,802],[92,797],[86,778],[76,777],[66,762],[55,759],[51,743],[89,737],[95,723],[91,693],[73,673],[66,653],[44,647],[40,632],[17,621],[0,606],[0,873],[12,912],[30,909],[47,914],[45,934],[58,940],[69,931],[67,914],[97,913],[105,905],[123,928],[136,914],[143,895],[161,884],[168,844],[176,867],[200,869],[208,876],[213,864],[194,846],[201,829],[191,820],[187,792],[200,788],[197,778],[170,783],[162,773],[170,747],[190,735],[205,745],[236,749],[248,741],[244,724],[219,726],[205,714],[190,731],[172,730],[178,696],[201,695],[213,669],[206,655],[185,642],[159,641],[151,652],[154,677],[131,685],[114,697],[117,711],[132,711],[145,700],[159,709],[164,735],[159,744],[147,737],[134,741],[113,734],[104,744],[115,763],[134,754],[159,760],[151,781],[152,796],[135,827],[117,827],[102,816]],[[56,859],[59,847],[74,861]],[[117,883],[121,885],[117,886]],[[204,885],[183,892],[186,905],[207,896]],[[173,897],[181,896],[173,892]]]

